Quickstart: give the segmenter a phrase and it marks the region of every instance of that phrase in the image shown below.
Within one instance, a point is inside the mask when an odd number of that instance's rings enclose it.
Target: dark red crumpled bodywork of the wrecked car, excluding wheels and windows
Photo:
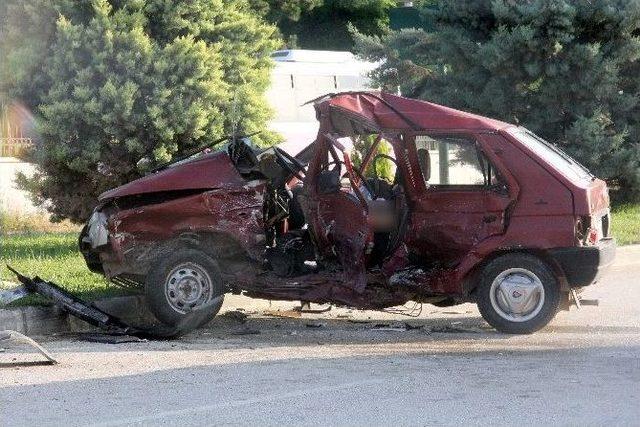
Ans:
[[[290,177],[282,191],[273,188],[279,182],[268,178],[273,167],[260,163],[272,154],[278,157],[277,152],[260,153],[249,173],[241,173],[227,153],[219,152],[125,184],[100,196],[96,214],[108,215],[109,244],[93,247],[85,233],[81,246],[88,264],[101,263],[111,278],[143,276],[154,259],[176,244],[198,245],[225,260],[234,246],[246,257],[235,258],[244,263],[242,268],[226,269],[227,286],[234,292],[361,308],[439,297],[469,300],[482,265],[511,251],[543,257],[559,280],[570,285],[551,250],[587,244],[578,236],[579,220],[589,218],[593,226],[605,218],[609,200],[603,181],[569,179],[515,138],[517,128],[511,124],[437,104],[354,92],[327,95],[315,100],[315,107],[320,126],[300,157],[307,164],[302,180]],[[376,231],[375,200],[365,197],[364,184],[339,142],[360,134],[377,134],[393,148],[399,181],[392,200],[382,200],[397,220],[390,233]],[[438,188],[425,183],[416,137],[445,134],[475,141],[500,185]],[[282,159],[277,160],[282,166]],[[349,185],[337,182],[339,189],[327,191],[323,180],[330,177],[332,162],[344,166],[342,178]],[[286,196],[296,185],[302,190]],[[287,217],[294,211],[291,206],[281,212],[282,218],[269,214],[280,203],[279,194],[288,203],[299,202],[306,227],[292,234],[289,225],[295,221]],[[274,227],[275,237],[267,231]],[[600,237],[608,237],[602,230]],[[305,262],[313,261],[315,269],[300,264],[295,277],[265,269],[265,254],[280,250],[278,239],[302,241],[296,233],[309,234],[315,258]],[[222,249],[220,242],[226,242]],[[290,249],[285,245],[274,256],[293,259],[296,253],[286,252]]]

